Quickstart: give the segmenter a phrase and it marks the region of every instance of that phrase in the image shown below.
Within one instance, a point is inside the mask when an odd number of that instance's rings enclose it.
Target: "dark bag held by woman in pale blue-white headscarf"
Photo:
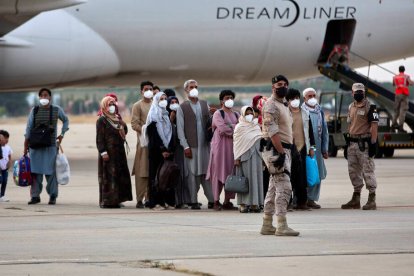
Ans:
[[[164,160],[158,168],[155,186],[158,191],[165,192],[177,187],[180,180],[180,167],[172,160]]]

